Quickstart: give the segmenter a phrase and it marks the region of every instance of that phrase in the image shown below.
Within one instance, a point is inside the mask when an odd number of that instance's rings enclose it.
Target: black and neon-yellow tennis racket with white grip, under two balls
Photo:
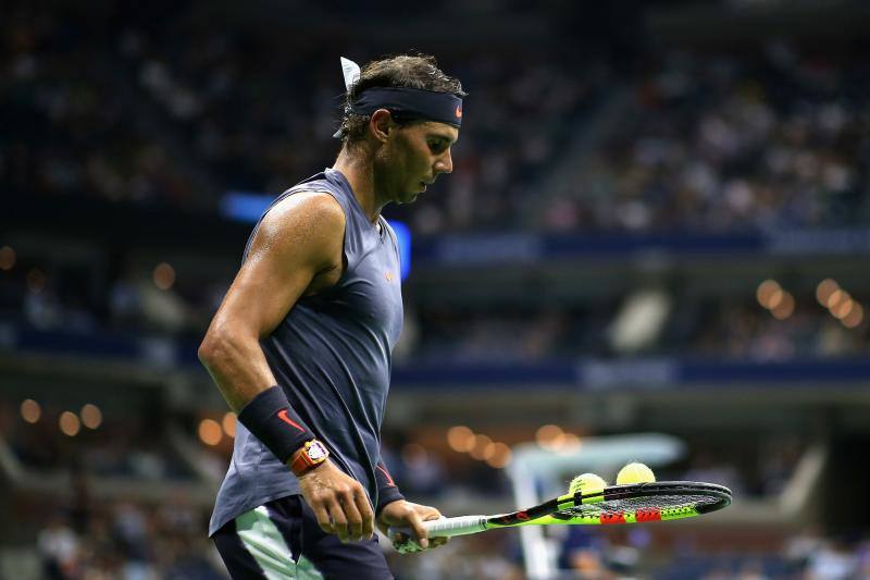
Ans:
[[[460,516],[424,521],[431,538],[465,535],[514,526],[642,523],[692,518],[731,504],[731,490],[714,483],[659,481],[610,485],[597,493],[560,495],[540,505],[495,516]],[[410,528],[390,528],[413,538]],[[401,538],[401,536],[398,536]]]

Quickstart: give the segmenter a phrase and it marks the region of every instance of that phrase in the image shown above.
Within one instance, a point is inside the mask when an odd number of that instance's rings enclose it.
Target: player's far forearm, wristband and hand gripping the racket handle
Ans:
[[[423,522],[438,519],[442,513],[431,506],[414,504],[405,499],[393,477],[387,471],[383,459],[377,461],[375,468],[377,478],[377,506],[375,507],[375,521],[377,529],[393,542],[393,546],[400,552],[417,552],[420,548],[438,547],[449,538],[434,538],[430,543]],[[410,528],[414,538],[390,538],[390,527]],[[411,542],[413,540],[413,542]]]

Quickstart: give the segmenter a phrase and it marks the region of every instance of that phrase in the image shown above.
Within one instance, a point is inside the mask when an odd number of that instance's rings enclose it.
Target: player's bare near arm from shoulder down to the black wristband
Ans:
[[[345,214],[324,193],[289,196],[260,224],[199,347],[199,359],[236,412],[276,384],[260,340],[301,296],[337,280],[344,232]]]

